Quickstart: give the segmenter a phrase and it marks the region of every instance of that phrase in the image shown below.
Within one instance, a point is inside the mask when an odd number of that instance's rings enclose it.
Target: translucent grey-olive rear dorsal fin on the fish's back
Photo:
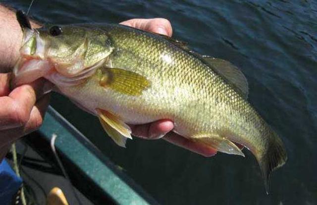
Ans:
[[[212,68],[216,69],[233,86],[235,86],[245,98],[248,98],[248,81],[239,68],[229,61],[220,58],[214,58],[210,56],[202,57],[208,64],[212,66]]]

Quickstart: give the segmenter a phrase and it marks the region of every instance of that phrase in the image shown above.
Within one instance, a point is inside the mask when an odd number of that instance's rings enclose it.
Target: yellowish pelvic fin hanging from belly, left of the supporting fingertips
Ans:
[[[97,108],[97,111],[99,120],[109,137],[117,145],[125,148],[127,138],[132,139],[130,127],[106,110]]]

